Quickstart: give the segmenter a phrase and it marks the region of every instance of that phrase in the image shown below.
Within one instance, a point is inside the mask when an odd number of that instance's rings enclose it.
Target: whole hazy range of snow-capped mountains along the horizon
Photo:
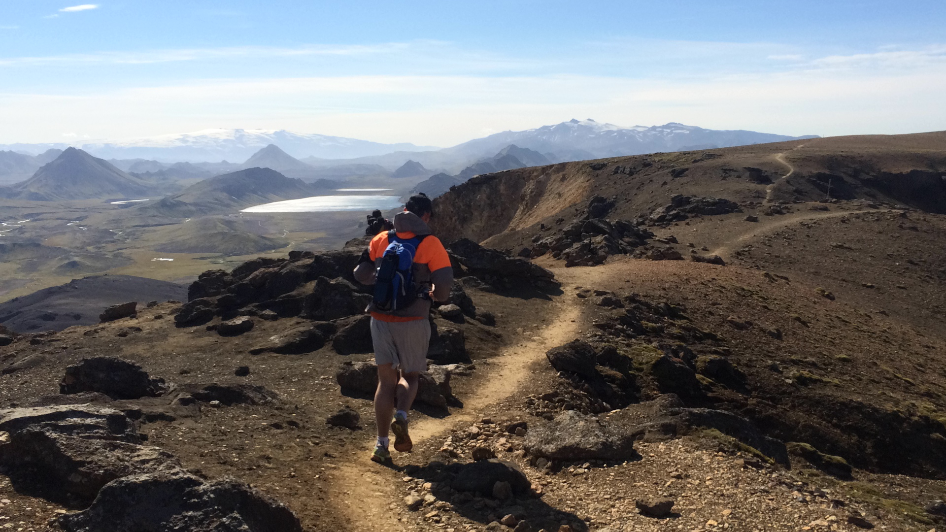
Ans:
[[[796,138],[805,137],[707,130],[675,122],[653,127],[622,127],[592,119],[572,119],[532,130],[495,133],[442,150],[411,143],[382,144],[324,134],[240,129],[175,133],[128,141],[88,141],[74,146],[105,159],[142,158],[173,163],[221,159],[243,161],[262,148],[276,145],[297,159],[314,158],[313,161],[304,161],[312,166],[334,166],[340,164],[341,159],[378,158],[358,162],[380,164],[394,170],[409,159],[427,168],[447,168],[451,166],[450,163],[463,168],[470,162],[490,156],[510,144],[543,154],[554,152],[555,158],[572,161],[654,151],[724,148]],[[69,146],[61,143],[9,144],[0,145],[0,150],[40,153]],[[391,157],[394,153],[397,155]]]

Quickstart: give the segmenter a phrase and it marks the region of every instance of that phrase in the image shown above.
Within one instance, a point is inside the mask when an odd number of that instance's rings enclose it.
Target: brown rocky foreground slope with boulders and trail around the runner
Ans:
[[[361,241],[2,334],[0,527],[942,526],[946,219],[686,198],[569,206],[510,237],[528,253],[451,244],[414,451],[389,467],[368,460]]]

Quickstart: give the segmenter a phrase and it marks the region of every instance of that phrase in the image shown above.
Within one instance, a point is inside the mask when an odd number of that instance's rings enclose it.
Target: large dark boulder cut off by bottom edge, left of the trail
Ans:
[[[59,518],[65,532],[301,532],[289,507],[232,479],[156,472],[115,480],[95,502]]]

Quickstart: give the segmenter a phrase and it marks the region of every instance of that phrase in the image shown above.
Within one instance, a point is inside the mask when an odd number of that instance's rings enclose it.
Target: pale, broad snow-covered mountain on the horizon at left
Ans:
[[[437,150],[411,143],[382,144],[356,138],[286,130],[202,130],[121,141],[85,141],[74,144],[15,144],[13,151],[40,152],[78,147],[104,159],[150,159],[162,162],[244,161],[271,144],[295,158],[349,159],[392,151]]]

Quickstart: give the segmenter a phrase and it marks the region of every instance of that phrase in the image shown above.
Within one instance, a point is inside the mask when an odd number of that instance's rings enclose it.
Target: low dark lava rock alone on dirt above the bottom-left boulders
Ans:
[[[100,392],[112,399],[157,397],[167,390],[164,379],[151,379],[140,365],[115,357],[82,359],[65,368],[61,394]]]

